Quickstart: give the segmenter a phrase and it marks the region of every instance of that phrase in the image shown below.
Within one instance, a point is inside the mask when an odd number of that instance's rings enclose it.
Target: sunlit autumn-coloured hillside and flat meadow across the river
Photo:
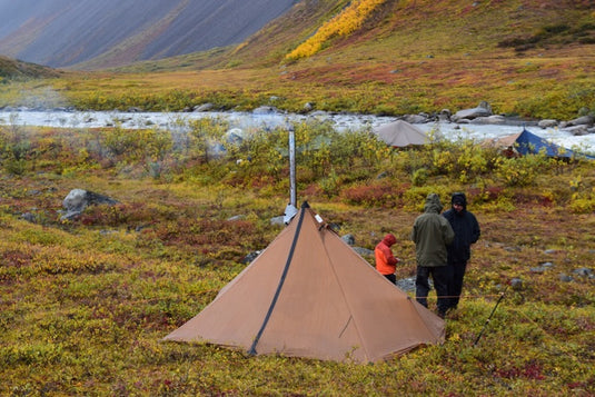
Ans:
[[[51,85],[81,109],[210,102],[404,115],[485,100],[496,113],[572,119],[595,109],[594,10],[592,1],[304,0],[237,46],[133,63],[125,46],[113,63],[125,67]]]

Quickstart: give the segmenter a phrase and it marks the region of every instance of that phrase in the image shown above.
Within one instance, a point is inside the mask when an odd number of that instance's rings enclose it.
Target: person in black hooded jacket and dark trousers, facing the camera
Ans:
[[[467,210],[467,197],[465,193],[453,193],[450,205],[450,209],[444,212],[443,216],[455,231],[453,244],[446,248],[448,251],[448,270],[450,272],[448,282],[449,308],[456,309],[463,290],[463,278],[472,255],[470,246],[477,242],[482,232],[477,218]]]

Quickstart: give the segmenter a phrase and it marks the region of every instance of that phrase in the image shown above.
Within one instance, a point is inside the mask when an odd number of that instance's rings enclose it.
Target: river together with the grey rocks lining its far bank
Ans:
[[[250,112],[212,111],[205,103],[182,112],[145,112],[139,108],[127,111],[80,111],[72,108],[0,108],[0,125],[38,126],[59,128],[103,128],[119,126],[125,129],[165,128],[176,130],[185,121],[205,117],[220,118],[229,122],[230,129],[277,128],[291,122],[328,121],[339,130],[370,128],[396,119],[414,123],[425,132],[439,132],[445,138],[499,138],[518,133],[523,128],[556,145],[566,148],[595,150],[595,118],[585,115],[573,120],[523,119],[495,115],[487,102],[476,108],[453,112],[443,109],[435,113],[403,115],[399,117],[326,112],[305,109],[304,113],[287,113],[275,107],[259,107]],[[308,111],[306,111],[308,110]]]

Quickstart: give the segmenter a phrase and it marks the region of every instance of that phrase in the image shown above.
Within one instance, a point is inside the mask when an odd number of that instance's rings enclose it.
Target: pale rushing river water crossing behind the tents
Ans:
[[[59,128],[101,128],[119,125],[125,129],[153,128],[178,129],[189,120],[199,118],[219,118],[227,120],[229,128],[276,128],[291,122],[308,120],[327,120],[337,130],[356,130],[378,127],[394,121],[394,117],[371,115],[336,115],[316,112],[313,115],[295,115],[279,112],[117,112],[117,111],[67,111],[67,110],[14,110],[0,111],[0,125],[34,126]],[[454,122],[417,123],[425,132],[438,131],[446,139],[489,139],[518,133],[523,125],[458,125]],[[579,151],[595,151],[595,133],[574,136],[569,131],[558,128],[542,129],[537,126],[526,127],[530,132],[545,138],[558,146]]]

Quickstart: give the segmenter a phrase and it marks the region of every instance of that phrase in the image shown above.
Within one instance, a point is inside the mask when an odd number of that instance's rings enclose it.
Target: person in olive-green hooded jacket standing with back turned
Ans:
[[[415,219],[411,240],[415,242],[417,276],[415,279],[416,299],[428,307],[429,277],[438,297],[437,314],[442,318],[448,310],[448,280],[446,246],[452,244],[455,232],[448,220],[440,215],[443,205],[436,193],[426,198],[424,214]]]

